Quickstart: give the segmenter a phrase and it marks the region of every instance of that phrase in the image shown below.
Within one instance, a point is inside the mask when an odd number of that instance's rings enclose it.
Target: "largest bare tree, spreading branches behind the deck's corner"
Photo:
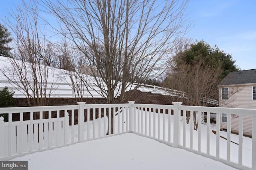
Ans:
[[[190,26],[187,3],[187,0],[42,1],[60,21],[60,30],[64,30],[56,31],[67,37],[87,60],[92,77],[83,79],[84,86],[89,93],[94,91],[106,98],[108,104],[127,100],[130,96],[126,91],[135,91],[141,82],[156,78],[166,69],[165,61],[172,55],[172,47]]]

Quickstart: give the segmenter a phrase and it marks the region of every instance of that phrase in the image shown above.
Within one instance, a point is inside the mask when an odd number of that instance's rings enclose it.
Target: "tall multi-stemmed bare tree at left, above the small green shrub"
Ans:
[[[1,71],[10,84],[26,96],[29,106],[47,106],[57,87],[54,69],[47,66],[51,59],[46,62],[52,51],[38,22],[37,6],[32,1],[27,4],[22,1],[6,20],[14,36],[14,55],[9,58],[12,66]]]

